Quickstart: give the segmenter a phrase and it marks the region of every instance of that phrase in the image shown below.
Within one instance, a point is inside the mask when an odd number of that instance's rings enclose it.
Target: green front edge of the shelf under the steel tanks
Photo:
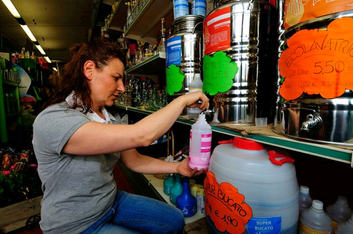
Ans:
[[[153,113],[153,111],[141,110],[135,107],[126,107],[126,106],[117,106],[117,107],[125,109],[127,111],[142,113],[145,115],[150,115],[151,113]],[[178,118],[177,122],[191,125],[195,121]],[[211,128],[213,132],[226,134],[232,137],[234,136],[244,137],[240,132],[237,132],[235,130],[231,130],[225,127],[218,127],[216,125],[211,124]],[[333,147],[329,145],[308,143],[308,142],[298,141],[298,140],[294,140],[287,137],[281,137],[281,136],[272,137],[272,136],[265,136],[265,135],[249,135],[248,137],[245,137],[245,138],[249,138],[257,142],[261,142],[264,144],[268,144],[268,145],[272,145],[280,148],[285,148],[285,149],[289,149],[289,150],[293,150],[293,151],[297,151],[297,152],[301,152],[301,153],[305,153],[313,156],[319,156],[319,157],[324,157],[324,158],[328,158],[328,159],[343,162],[343,163],[348,163],[348,164],[351,164],[351,166],[353,167],[352,150]]]

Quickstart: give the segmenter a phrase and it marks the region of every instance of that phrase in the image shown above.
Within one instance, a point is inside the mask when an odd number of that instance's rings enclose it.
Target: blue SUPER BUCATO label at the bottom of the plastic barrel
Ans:
[[[249,234],[279,234],[281,232],[281,217],[252,217],[248,222]]]

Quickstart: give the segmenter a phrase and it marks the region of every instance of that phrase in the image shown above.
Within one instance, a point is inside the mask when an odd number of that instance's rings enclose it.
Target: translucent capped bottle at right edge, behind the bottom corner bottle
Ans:
[[[326,208],[327,214],[332,219],[332,233],[341,222],[347,221],[351,215],[352,210],[349,208],[348,199],[345,196],[338,196],[334,204]]]

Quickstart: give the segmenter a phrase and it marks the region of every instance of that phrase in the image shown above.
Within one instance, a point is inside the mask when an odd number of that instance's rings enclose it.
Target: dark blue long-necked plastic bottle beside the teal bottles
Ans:
[[[181,210],[185,217],[190,217],[196,214],[197,201],[196,198],[190,194],[189,178],[183,179],[183,193],[176,199],[177,207]]]

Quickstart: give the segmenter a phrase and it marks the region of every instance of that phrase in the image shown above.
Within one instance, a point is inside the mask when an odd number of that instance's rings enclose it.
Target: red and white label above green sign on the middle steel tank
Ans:
[[[230,6],[209,14],[204,20],[204,55],[230,47]]]

